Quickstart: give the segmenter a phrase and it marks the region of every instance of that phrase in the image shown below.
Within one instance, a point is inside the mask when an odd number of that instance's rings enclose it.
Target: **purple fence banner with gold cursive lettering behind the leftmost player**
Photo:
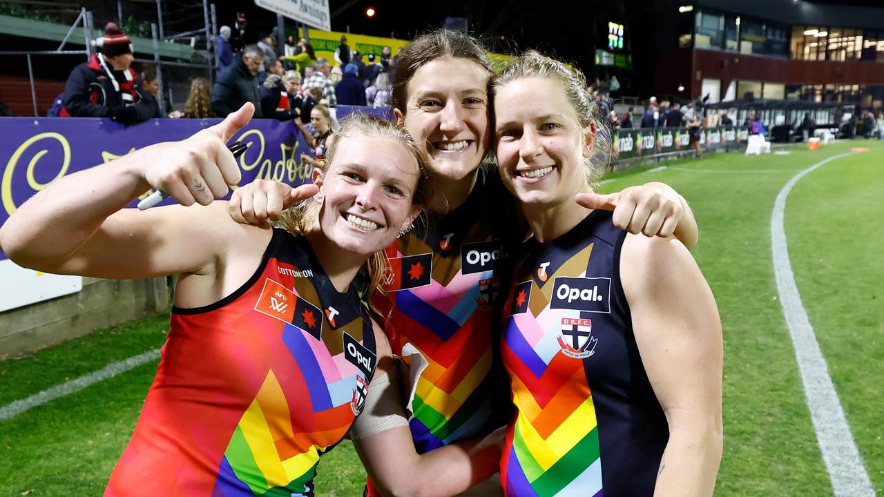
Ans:
[[[354,111],[391,119],[388,109],[339,105],[337,119]],[[160,141],[183,140],[221,119],[151,119],[125,127],[111,119],[88,118],[0,118],[0,226],[19,205],[52,181],[104,164]],[[309,182],[312,170],[301,164],[301,154],[312,154],[297,126],[292,122],[254,119],[233,136],[248,143],[239,158],[245,185],[255,178],[283,181],[293,186]],[[143,196],[149,195],[145,192]],[[230,198],[228,194],[226,198]],[[168,198],[161,205],[171,204]],[[132,208],[138,199],[130,203]],[[0,252],[0,260],[6,258]]]

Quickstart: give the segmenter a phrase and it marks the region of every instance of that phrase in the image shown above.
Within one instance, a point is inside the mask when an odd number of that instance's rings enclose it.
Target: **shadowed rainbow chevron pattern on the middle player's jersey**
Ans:
[[[411,243],[409,252],[431,251],[421,241]],[[430,285],[392,293],[394,350],[411,343],[429,363],[410,420],[421,453],[473,436],[491,414],[492,305],[480,294],[480,282],[493,279],[494,271],[461,274],[460,264],[459,253],[433,253]]]

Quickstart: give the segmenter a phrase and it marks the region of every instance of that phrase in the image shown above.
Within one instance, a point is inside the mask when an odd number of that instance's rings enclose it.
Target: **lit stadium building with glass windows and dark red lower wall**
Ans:
[[[658,11],[659,94],[882,106],[884,6],[659,0]]]

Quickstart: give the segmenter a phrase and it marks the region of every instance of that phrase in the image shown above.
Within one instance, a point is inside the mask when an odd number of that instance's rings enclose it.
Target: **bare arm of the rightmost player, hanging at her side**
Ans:
[[[681,243],[627,235],[621,280],[642,363],[669,441],[655,496],[712,495],[722,450],[721,323],[712,291]]]

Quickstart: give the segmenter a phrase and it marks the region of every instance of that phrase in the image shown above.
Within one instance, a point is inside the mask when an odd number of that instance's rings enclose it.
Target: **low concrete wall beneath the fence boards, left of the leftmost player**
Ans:
[[[166,279],[84,278],[83,289],[0,312],[0,359],[169,309]]]

